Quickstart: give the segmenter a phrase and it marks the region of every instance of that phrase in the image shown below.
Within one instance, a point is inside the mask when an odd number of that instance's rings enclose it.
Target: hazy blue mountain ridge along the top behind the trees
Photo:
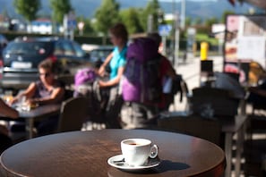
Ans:
[[[129,7],[145,8],[149,0],[116,0],[120,4],[120,9],[126,9]],[[13,7],[13,1],[10,0],[0,0],[0,12],[6,11],[11,17],[18,17],[19,15],[15,13]],[[42,8],[39,11],[39,15],[47,15],[51,13],[49,6],[49,1],[41,0]],[[101,1],[95,0],[71,0],[73,9],[77,16],[84,16],[86,18],[93,18],[94,13],[99,8]],[[86,5],[88,4],[88,5]],[[160,2],[160,7],[164,13],[173,13],[173,10],[180,12],[181,4],[180,2],[175,3],[174,6],[171,2]],[[229,4],[226,0],[218,1],[186,1],[186,16],[191,18],[201,17],[202,19],[207,19],[210,17],[220,18],[222,13],[227,11],[233,11],[236,13],[246,13],[251,5],[248,4],[236,4],[235,7]]]

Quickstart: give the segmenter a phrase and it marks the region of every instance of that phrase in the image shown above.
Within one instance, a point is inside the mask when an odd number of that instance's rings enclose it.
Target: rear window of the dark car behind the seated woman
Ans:
[[[47,55],[51,50],[47,42],[14,42],[8,45],[5,53],[9,55]]]

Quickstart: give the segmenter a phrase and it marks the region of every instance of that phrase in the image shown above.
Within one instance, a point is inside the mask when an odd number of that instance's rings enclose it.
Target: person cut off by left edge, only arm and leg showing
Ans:
[[[5,104],[2,99],[0,99],[0,114],[10,118],[17,118],[19,113]],[[4,125],[0,125],[0,154],[8,147],[13,145],[12,139],[8,136],[8,130]]]

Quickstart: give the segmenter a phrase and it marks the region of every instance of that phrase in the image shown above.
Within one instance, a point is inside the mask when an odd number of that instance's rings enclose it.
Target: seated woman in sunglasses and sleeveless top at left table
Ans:
[[[30,105],[47,105],[61,103],[64,100],[64,84],[56,80],[56,64],[51,60],[44,60],[39,63],[39,80],[30,83],[25,91],[14,97],[12,104],[21,97],[26,97]],[[38,126],[39,135],[55,131],[57,128],[58,116],[51,117],[48,121],[40,122]]]

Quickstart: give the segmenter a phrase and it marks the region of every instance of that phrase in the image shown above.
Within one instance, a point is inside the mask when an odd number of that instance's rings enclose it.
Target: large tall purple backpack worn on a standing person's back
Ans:
[[[122,96],[124,101],[158,103],[160,83],[160,55],[158,46],[150,38],[135,38],[128,46]]]

